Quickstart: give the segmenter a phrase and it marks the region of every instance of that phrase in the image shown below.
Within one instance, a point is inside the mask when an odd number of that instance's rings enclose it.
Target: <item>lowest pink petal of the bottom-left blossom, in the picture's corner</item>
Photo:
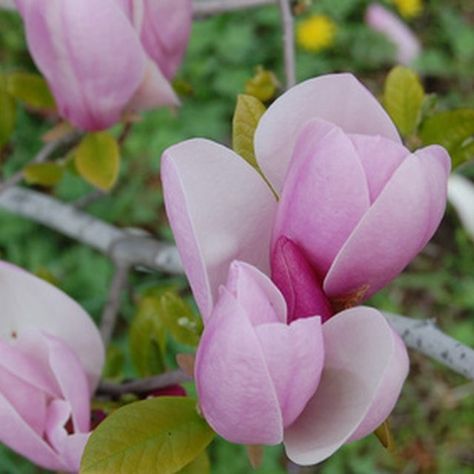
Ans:
[[[65,469],[57,453],[18,415],[1,392],[0,426],[0,442],[10,449],[45,469]]]

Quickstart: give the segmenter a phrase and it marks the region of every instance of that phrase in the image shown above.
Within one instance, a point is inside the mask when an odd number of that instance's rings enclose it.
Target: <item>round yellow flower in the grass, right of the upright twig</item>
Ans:
[[[322,51],[334,43],[336,24],[326,15],[313,15],[299,23],[296,41],[303,49]]]

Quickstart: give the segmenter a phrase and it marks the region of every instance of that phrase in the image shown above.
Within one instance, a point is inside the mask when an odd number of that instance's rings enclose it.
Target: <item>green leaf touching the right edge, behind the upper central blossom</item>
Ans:
[[[420,136],[424,145],[444,146],[458,166],[474,157],[474,109],[438,112],[422,123]]]

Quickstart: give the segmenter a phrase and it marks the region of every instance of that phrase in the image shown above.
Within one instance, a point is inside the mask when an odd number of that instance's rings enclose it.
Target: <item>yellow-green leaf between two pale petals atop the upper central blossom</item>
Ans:
[[[234,151],[258,169],[253,137],[258,122],[265,112],[265,106],[251,95],[240,94],[232,122],[232,147]]]

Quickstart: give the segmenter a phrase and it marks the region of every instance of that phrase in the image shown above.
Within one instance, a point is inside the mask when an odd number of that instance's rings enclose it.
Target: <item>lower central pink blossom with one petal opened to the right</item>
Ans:
[[[300,281],[311,276],[303,272]],[[374,431],[408,372],[403,342],[370,308],[288,324],[283,295],[255,267],[233,262],[195,367],[201,409],[227,440],[285,443],[314,464]]]

